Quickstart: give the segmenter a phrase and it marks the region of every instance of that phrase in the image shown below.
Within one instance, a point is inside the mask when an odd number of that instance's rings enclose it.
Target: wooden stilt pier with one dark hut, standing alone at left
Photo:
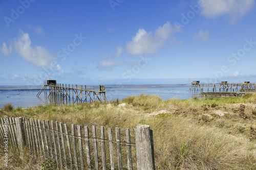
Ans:
[[[41,90],[37,93],[36,96],[39,96],[42,91],[45,92],[46,100],[50,100],[50,102],[54,102],[54,104],[68,104],[71,103],[84,103],[84,102],[95,102],[100,101],[102,99],[105,102],[108,102],[105,96],[105,86],[99,85],[97,87],[90,86],[87,88],[86,85],[75,85],[72,86],[69,84],[57,84],[56,80],[48,80],[44,82],[44,86],[42,86]],[[49,94],[47,94],[47,91]],[[91,95],[93,93],[93,95]],[[102,98],[101,98],[102,96]],[[65,100],[66,99],[66,100]],[[66,101],[66,102],[65,102]]]

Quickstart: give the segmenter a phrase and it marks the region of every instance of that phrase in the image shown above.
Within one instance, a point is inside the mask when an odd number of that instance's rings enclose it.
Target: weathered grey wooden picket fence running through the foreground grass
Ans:
[[[125,134],[115,128],[116,140],[111,128],[108,133],[103,126],[89,129],[74,124],[69,129],[67,124],[53,120],[5,116],[1,118],[0,138],[8,139],[8,146],[20,153],[28,148],[30,153],[54,159],[57,169],[155,169],[150,126],[137,126],[131,132],[126,129]]]

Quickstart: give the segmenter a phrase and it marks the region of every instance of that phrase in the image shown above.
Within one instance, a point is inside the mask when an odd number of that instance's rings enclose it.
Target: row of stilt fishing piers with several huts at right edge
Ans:
[[[192,81],[189,90],[192,92],[201,91],[201,96],[243,96],[247,92],[256,92],[256,83],[222,81],[214,84],[200,84],[200,81]]]

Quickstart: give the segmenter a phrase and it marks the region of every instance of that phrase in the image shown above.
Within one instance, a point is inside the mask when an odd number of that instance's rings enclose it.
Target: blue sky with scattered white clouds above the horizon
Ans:
[[[256,82],[255,0],[0,0],[0,85]]]

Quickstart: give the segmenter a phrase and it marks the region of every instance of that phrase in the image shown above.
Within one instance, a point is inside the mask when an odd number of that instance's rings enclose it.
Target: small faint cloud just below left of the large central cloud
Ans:
[[[113,60],[113,58],[106,56],[100,59],[100,61],[98,62],[98,68],[102,70],[110,70],[114,66],[119,66],[123,64],[124,62],[122,61],[115,61]]]

